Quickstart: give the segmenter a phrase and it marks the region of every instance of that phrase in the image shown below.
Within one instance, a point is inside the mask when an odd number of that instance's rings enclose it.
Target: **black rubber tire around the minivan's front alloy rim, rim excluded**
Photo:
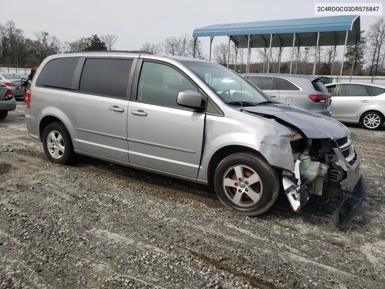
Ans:
[[[230,197],[228,197],[228,193],[225,192],[225,188],[223,185],[223,179],[226,172],[233,166],[239,165],[248,166],[249,168],[254,170],[259,175],[260,182],[262,183],[262,195],[256,203],[251,204],[249,206],[241,206],[234,203],[230,199]],[[241,186],[241,183],[237,185]],[[259,187],[259,189],[261,189],[261,187]],[[238,213],[241,213],[242,215],[256,216],[263,214],[264,212],[269,210],[271,206],[273,206],[280,192],[280,181],[278,179],[276,171],[271,168],[271,166],[269,166],[268,163],[262,160],[262,158],[258,155],[246,152],[234,153],[233,155],[229,155],[224,158],[217,166],[214,173],[214,188],[219,200],[221,200],[221,202],[226,207],[232,208],[233,210]],[[239,189],[240,188],[241,187],[239,187]],[[230,191],[230,193],[232,192]],[[243,200],[244,197],[241,198],[242,202]]]

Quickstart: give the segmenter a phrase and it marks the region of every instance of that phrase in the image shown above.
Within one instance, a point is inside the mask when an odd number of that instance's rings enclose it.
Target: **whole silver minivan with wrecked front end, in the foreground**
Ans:
[[[220,88],[215,83],[221,82]],[[195,183],[255,216],[280,187],[295,212],[311,195],[352,196],[343,227],[365,195],[350,131],[338,121],[275,102],[212,62],[132,52],[47,57],[27,91],[28,135],[53,163],[78,154]]]

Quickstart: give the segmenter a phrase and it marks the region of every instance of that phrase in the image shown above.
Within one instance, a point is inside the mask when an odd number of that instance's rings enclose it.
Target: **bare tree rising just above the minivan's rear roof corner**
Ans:
[[[36,40],[33,41],[33,54],[35,54],[37,60],[42,62],[47,56],[58,54],[60,47],[62,46],[59,39],[55,36],[50,36],[48,32],[40,31],[34,34]]]

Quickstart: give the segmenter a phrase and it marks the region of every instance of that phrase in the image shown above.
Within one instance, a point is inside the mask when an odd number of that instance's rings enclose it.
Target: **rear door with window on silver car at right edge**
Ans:
[[[340,121],[358,120],[362,111],[372,103],[367,88],[362,84],[340,84],[331,99],[332,118]]]

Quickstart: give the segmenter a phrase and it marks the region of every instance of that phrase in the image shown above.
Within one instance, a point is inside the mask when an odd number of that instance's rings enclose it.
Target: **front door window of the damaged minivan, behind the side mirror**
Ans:
[[[182,108],[176,103],[181,91],[198,89],[175,69],[155,62],[143,62],[137,100]]]

